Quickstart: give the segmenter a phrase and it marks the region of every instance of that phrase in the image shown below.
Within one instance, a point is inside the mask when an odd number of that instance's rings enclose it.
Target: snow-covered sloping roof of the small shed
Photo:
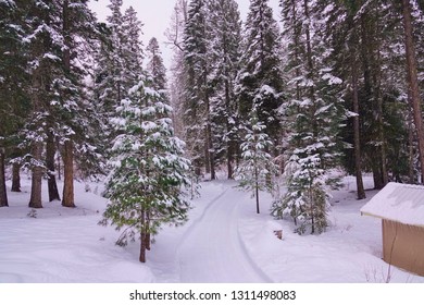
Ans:
[[[361,212],[424,227],[424,186],[390,182],[361,208]]]

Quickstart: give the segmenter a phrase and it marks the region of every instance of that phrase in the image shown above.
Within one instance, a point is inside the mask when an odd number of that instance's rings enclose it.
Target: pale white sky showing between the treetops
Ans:
[[[241,19],[245,20],[249,10],[250,0],[236,0],[241,13]],[[165,46],[165,30],[170,26],[171,15],[174,10],[176,0],[123,0],[123,12],[133,7],[137,11],[138,19],[144,23],[142,40],[145,47],[151,37],[157,37],[161,44],[161,49],[166,66],[170,66],[172,52]],[[96,12],[100,21],[104,21],[110,14],[108,4],[110,0],[91,0],[89,7]],[[269,0],[270,5],[274,10],[274,16],[277,21],[279,17],[278,0]]]

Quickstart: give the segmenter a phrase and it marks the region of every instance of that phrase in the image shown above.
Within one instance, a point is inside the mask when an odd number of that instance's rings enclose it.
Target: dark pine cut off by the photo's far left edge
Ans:
[[[25,26],[28,1],[0,1],[0,207],[8,206],[5,167],[17,157],[18,131],[28,114],[28,73]],[[14,162],[14,169],[17,162]],[[16,178],[16,175],[13,175]],[[17,191],[16,179],[12,192]]]

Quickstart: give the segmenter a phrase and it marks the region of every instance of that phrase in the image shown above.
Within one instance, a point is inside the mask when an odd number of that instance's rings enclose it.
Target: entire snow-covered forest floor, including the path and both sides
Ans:
[[[273,220],[265,194],[258,216],[234,182],[205,182],[189,222],[164,228],[142,265],[137,243],[117,247],[120,233],[97,224],[107,200],[96,185],[86,192],[76,184],[75,209],[45,203],[34,213],[25,180],[23,193],[9,193],[10,207],[0,208],[0,282],[424,282],[381,259],[381,221],[359,212],[375,191],[358,202],[354,180],[345,181],[334,194],[332,227],[317,236]]]

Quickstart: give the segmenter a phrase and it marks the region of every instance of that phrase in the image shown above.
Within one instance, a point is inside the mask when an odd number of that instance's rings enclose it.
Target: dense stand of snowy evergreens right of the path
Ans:
[[[282,0],[280,9],[251,0],[240,26],[234,0],[177,1],[174,19],[185,22],[172,27],[172,101],[197,174],[212,180],[217,168],[234,178],[257,154],[245,151],[257,115],[288,188],[273,213],[299,233],[322,232],[341,171],[356,175],[359,199],[363,172],[375,188],[423,182],[423,3]]]

